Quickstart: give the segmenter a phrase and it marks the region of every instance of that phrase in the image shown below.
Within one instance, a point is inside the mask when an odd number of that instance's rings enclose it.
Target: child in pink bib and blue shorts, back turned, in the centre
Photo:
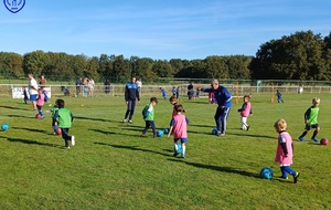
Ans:
[[[170,134],[173,134],[173,147],[174,147],[174,154],[173,157],[178,156],[178,141],[181,140],[182,146],[182,158],[185,158],[185,151],[186,151],[186,143],[188,143],[188,124],[189,119],[183,115],[183,106],[178,104],[174,106],[177,111],[177,115],[172,116],[172,119],[170,122],[170,129],[168,133],[168,137]]]

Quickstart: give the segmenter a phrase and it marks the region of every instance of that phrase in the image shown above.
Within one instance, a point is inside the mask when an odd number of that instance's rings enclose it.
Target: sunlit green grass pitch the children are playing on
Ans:
[[[1,98],[0,209],[331,209],[331,147],[310,139],[301,143],[303,113],[316,95],[284,95],[285,103],[270,103],[270,95],[253,95],[254,115],[249,132],[241,130],[233,105],[225,137],[211,135],[215,105],[206,98],[180,101],[188,111],[186,158],[172,157],[172,138],[140,138],[145,123],[136,108],[134,124],[120,123],[122,97],[65,97],[75,115],[71,135],[76,146],[64,148],[53,135],[51,114],[35,119],[31,104]],[[321,98],[319,138],[330,137],[330,94]],[[51,98],[54,103],[56,98]],[[234,101],[235,102],[235,101]],[[51,106],[45,105],[44,111]],[[172,106],[160,99],[156,125],[169,125]],[[274,161],[278,118],[288,123],[295,140],[292,168],[298,183],[279,180]],[[273,180],[259,178],[263,167],[275,172]]]

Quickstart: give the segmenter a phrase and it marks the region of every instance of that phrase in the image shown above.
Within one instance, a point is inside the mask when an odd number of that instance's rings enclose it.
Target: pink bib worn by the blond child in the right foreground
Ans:
[[[285,156],[281,143],[286,144],[287,147],[287,157]],[[275,161],[279,164],[293,164],[293,149],[292,149],[292,137],[287,133],[282,132],[278,135],[278,146],[276,151]]]

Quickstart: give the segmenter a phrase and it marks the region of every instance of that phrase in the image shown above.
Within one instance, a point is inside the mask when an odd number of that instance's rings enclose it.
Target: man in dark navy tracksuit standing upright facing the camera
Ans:
[[[132,116],[135,113],[136,107],[136,98],[138,98],[138,103],[140,104],[140,97],[138,92],[138,86],[136,84],[136,77],[131,77],[131,82],[127,83],[126,91],[125,91],[125,99],[127,104],[127,112],[125,115],[125,119],[122,123],[126,123],[128,119],[128,123],[132,123]],[[128,118],[129,117],[129,118]]]

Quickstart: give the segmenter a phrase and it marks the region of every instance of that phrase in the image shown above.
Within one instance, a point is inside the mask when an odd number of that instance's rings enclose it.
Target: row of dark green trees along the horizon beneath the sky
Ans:
[[[0,75],[20,78],[28,73],[49,80],[127,82],[135,75],[147,83],[162,77],[227,80],[321,80],[331,77],[331,33],[322,38],[301,31],[260,45],[256,56],[212,55],[202,60],[152,60],[100,54],[88,57],[64,52],[33,51],[24,55],[0,52]]]

